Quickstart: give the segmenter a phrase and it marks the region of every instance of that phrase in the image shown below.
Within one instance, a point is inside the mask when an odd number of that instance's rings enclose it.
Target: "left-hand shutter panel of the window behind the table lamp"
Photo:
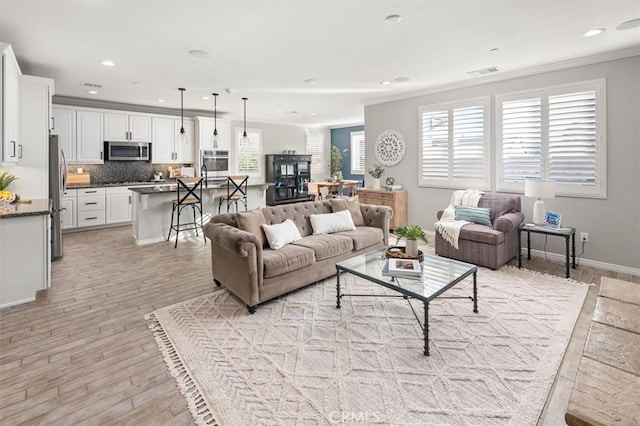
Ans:
[[[540,98],[502,103],[502,181],[542,177]]]

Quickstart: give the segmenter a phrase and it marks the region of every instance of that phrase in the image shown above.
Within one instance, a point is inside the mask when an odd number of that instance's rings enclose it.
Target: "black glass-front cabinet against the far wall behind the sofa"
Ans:
[[[266,204],[298,203],[314,199],[309,196],[307,183],[311,180],[311,155],[267,154]]]

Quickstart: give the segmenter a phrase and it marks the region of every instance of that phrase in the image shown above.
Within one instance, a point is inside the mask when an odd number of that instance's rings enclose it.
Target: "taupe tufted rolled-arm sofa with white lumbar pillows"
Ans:
[[[391,208],[357,202],[348,206],[355,230],[313,235],[310,216],[345,210],[342,203],[346,201],[310,201],[214,216],[204,226],[211,240],[214,281],[253,313],[262,302],[335,275],[337,262],[388,245]],[[273,250],[260,225],[286,219],[296,224],[302,239]]]

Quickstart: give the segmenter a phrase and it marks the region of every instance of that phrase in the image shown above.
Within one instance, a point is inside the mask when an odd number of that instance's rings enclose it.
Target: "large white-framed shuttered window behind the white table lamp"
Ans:
[[[496,97],[498,191],[549,179],[556,193],[606,197],[605,81]]]

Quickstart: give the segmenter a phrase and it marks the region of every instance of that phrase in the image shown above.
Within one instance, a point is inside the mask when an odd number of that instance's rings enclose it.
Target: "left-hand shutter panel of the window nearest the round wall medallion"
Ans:
[[[422,114],[422,179],[449,180],[449,112]]]

